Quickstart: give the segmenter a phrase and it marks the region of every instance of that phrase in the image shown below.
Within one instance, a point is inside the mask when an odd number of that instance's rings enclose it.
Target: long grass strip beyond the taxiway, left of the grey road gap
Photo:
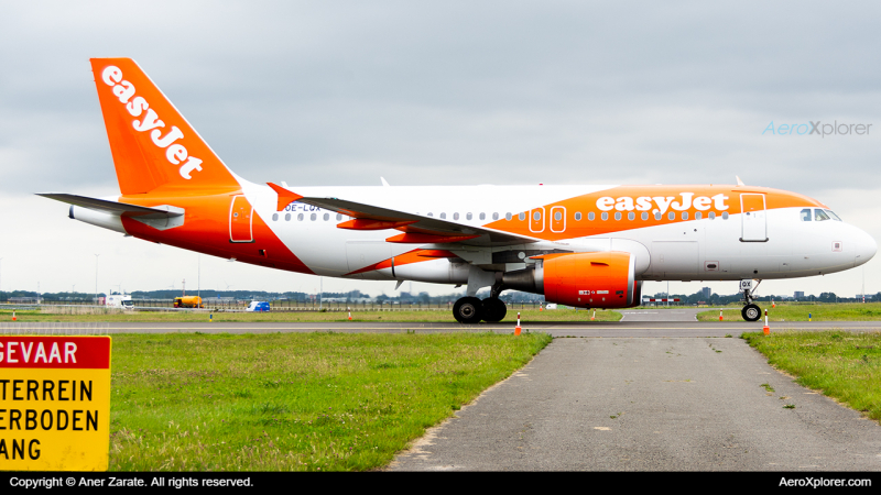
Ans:
[[[52,309],[52,308],[50,308]],[[537,309],[520,310],[522,322],[542,321],[590,321],[590,315],[585,310],[553,309],[539,311]],[[516,310],[509,310],[503,322],[515,323]],[[302,312],[214,312],[214,321],[229,322],[333,322],[348,321],[346,312],[336,311],[302,311]],[[611,310],[597,310],[596,321],[618,321],[621,314]],[[15,318],[22,322],[202,322],[208,321],[208,312],[194,311],[128,311],[96,315],[58,315],[41,312],[39,310],[15,311]],[[352,311],[352,322],[365,321],[393,321],[393,322],[455,322],[449,310],[394,310],[394,311]],[[12,310],[0,309],[0,321],[12,320]]]

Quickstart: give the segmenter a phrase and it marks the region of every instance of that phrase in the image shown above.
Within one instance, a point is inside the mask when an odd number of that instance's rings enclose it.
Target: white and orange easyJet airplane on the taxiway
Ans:
[[[500,321],[505,289],[583,308],[640,304],[643,280],[840,272],[874,240],[822,202],[738,185],[290,187],[230,170],[129,58],[91,67],[120,196],[42,196],[146,241],[323,276],[467,285],[463,323]],[[757,284],[758,286],[758,284]],[[491,287],[480,300],[478,289]]]

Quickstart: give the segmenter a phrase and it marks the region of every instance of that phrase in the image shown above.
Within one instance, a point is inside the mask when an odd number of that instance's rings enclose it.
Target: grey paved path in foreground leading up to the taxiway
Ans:
[[[879,469],[881,426],[795,385],[742,340],[724,338],[555,339],[390,466]]]

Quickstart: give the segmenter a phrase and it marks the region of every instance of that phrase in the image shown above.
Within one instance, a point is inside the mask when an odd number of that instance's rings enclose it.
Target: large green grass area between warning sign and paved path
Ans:
[[[110,470],[366,471],[551,338],[113,336]]]

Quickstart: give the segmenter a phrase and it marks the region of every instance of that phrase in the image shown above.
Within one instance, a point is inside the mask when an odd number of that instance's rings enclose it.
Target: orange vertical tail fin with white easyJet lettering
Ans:
[[[131,58],[93,58],[110,151],[123,195],[159,187],[238,188],[189,122]]]

